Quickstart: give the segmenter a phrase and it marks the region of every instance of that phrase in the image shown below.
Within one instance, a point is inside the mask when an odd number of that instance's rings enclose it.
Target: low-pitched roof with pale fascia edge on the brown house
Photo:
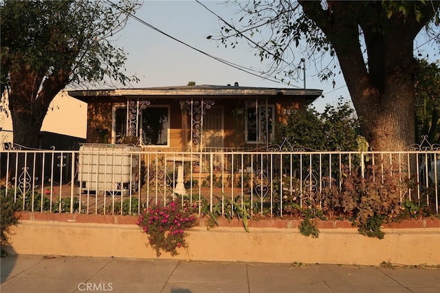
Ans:
[[[242,87],[238,85],[186,85],[176,87],[145,87],[139,89],[89,89],[68,91],[69,96],[91,102],[95,98],[181,98],[181,96],[216,96],[216,98],[254,98],[270,96],[301,96],[313,102],[322,95],[322,89],[279,87]]]

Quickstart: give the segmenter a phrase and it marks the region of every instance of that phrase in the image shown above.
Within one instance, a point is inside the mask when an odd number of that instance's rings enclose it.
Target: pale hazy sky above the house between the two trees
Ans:
[[[203,5],[225,20],[232,17],[237,19],[234,6],[226,6],[219,1],[203,1]],[[225,48],[217,41],[206,39],[209,35],[218,35],[222,23],[196,1],[143,1],[142,8],[137,10],[135,16],[199,51],[243,67],[265,69],[259,56],[254,56],[256,52],[247,43]],[[216,61],[169,36],[131,19],[115,39],[115,45],[128,53],[126,73],[140,78],[140,82],[133,83],[133,87],[187,85],[188,81],[195,81],[197,85],[233,85],[238,82],[249,87],[304,87],[302,75],[301,80],[292,81],[291,86],[272,81],[275,78],[266,80]],[[302,57],[298,53],[298,60]],[[306,62],[305,72],[308,89],[324,90],[325,98],[319,98],[318,104],[325,105],[339,96],[349,97],[341,75],[335,78],[334,87],[340,89],[334,90],[333,80],[322,83],[314,77],[317,72],[310,63]]]

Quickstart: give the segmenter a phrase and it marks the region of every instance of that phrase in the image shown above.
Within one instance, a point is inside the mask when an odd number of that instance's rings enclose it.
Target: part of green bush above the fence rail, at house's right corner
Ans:
[[[314,107],[296,111],[281,124],[281,135],[298,146],[318,151],[358,151],[360,121],[348,102],[338,100],[336,107],[327,105],[322,113]]]

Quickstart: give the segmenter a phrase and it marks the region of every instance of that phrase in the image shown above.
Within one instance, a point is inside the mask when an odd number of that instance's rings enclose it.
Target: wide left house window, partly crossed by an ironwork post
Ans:
[[[168,146],[170,113],[168,106],[148,106],[140,109],[138,115],[130,117],[131,120],[127,118],[126,105],[115,105],[113,113],[115,143],[124,143],[127,135],[135,135],[140,138],[142,145]],[[130,129],[129,133],[127,129]]]

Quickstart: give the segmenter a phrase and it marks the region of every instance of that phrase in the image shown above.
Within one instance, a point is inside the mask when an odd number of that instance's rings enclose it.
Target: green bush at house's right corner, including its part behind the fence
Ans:
[[[289,116],[287,124],[280,125],[279,129],[281,135],[294,144],[295,148],[303,147],[318,151],[366,151],[368,149],[368,142],[358,134],[360,119],[355,116],[355,110],[349,102],[344,102],[342,98],[336,106],[327,105],[322,113],[318,113],[314,107],[296,111]],[[304,178],[310,175],[310,167],[313,170],[321,170],[322,175],[329,175],[331,171],[331,177],[340,176],[338,166],[340,158],[333,157],[330,170],[331,155],[325,156],[322,161],[312,160],[312,165],[309,166],[311,156],[313,157],[314,154],[303,155],[303,162],[298,161],[298,156],[293,159],[286,156],[287,160],[283,162],[283,166],[291,166],[295,169],[302,164],[301,171],[303,171]],[[349,159],[352,163],[360,160],[359,156],[348,157],[342,158],[342,160],[347,160],[347,162],[344,161],[345,164],[349,164]]]

